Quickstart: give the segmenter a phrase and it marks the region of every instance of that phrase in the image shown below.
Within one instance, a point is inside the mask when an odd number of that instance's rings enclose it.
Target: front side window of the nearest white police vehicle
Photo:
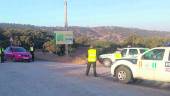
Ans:
[[[142,56],[144,60],[163,60],[165,49],[154,49]]]

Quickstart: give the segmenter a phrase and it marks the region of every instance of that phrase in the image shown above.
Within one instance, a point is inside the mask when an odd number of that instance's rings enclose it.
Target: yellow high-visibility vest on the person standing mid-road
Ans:
[[[96,49],[88,50],[88,62],[96,62]]]

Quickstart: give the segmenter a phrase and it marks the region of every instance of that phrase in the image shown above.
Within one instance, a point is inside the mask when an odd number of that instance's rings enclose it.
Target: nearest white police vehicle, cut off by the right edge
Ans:
[[[122,83],[135,79],[170,82],[170,47],[157,47],[134,58],[117,60],[111,74]]]

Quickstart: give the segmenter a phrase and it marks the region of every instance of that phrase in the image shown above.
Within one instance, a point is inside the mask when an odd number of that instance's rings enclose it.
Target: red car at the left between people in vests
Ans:
[[[13,61],[31,61],[32,55],[30,52],[27,52],[23,47],[7,47],[4,51],[6,60]]]

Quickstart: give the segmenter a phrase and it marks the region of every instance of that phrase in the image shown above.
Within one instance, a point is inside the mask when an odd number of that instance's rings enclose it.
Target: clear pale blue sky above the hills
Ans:
[[[170,31],[170,0],[67,0],[69,26]],[[0,23],[64,26],[64,0],[0,0]]]

